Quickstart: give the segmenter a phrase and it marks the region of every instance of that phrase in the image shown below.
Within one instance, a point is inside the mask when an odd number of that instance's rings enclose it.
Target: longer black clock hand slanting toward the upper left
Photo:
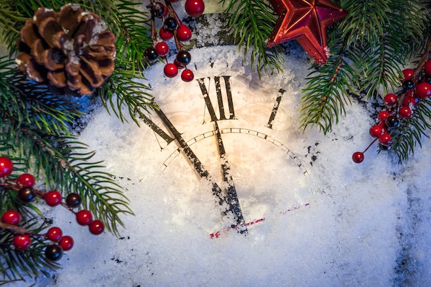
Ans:
[[[218,198],[219,204],[222,205],[223,202],[227,203],[228,205],[227,211],[231,211],[235,216],[235,220],[237,222],[236,226],[238,226],[239,232],[240,233],[246,232],[246,224],[244,223],[244,217],[242,217],[240,204],[238,202],[238,198],[236,197],[235,187],[232,186],[235,194],[234,197],[231,197],[230,195],[233,192],[229,190],[231,189],[231,187],[229,187],[227,191],[227,196],[223,196],[222,189],[220,189],[217,183],[213,182],[213,180],[211,179],[211,176],[209,176],[209,172],[207,171],[207,169],[204,168],[202,162],[198,159],[196,154],[191,150],[189,145],[187,145],[187,142],[184,140],[184,138],[182,138],[180,132],[176,129],[176,127],[172,125],[169,118],[167,118],[167,116],[165,115],[165,113],[163,113],[161,109],[155,109],[155,111],[156,111],[156,114],[158,114],[158,116],[162,120],[162,122],[165,123],[165,126],[167,127],[167,129],[169,129],[169,131],[171,131],[171,133],[174,135],[174,138],[177,140],[178,144],[182,148],[182,151],[184,151],[185,155],[190,160],[191,164],[193,164],[193,167],[196,169],[199,176],[202,178],[207,178],[207,180],[211,182],[213,186],[212,188],[213,194]]]

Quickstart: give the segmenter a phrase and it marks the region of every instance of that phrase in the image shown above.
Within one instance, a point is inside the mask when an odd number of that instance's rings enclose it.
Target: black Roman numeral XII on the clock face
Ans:
[[[209,78],[209,83],[211,83],[211,77]],[[229,118],[226,117],[224,112],[224,103],[222,96],[222,86],[220,84],[220,76],[213,77],[215,83],[215,92],[217,94],[218,101],[218,109],[220,111],[220,118],[215,114],[215,110],[213,104],[211,103],[211,99],[209,98],[209,85],[208,88],[204,83],[205,78],[198,78],[196,81],[199,83],[200,91],[202,92],[202,96],[204,96],[205,105],[207,105],[207,109],[209,111],[209,115],[211,116],[211,122],[215,122],[215,120],[235,120],[235,110],[233,109],[233,99],[232,99],[232,90],[231,90],[231,76],[222,76],[224,79],[224,87],[227,96],[227,105],[229,107]]]

